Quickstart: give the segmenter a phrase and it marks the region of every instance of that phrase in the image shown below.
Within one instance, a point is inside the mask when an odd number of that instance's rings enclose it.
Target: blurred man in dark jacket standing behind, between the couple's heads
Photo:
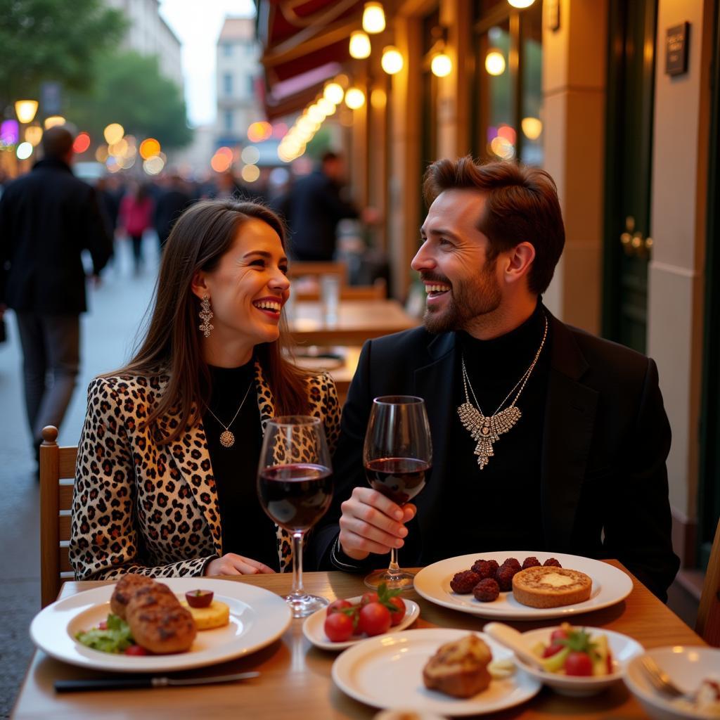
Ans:
[[[332,260],[338,222],[358,217],[355,206],[342,197],[343,174],[343,159],[328,151],[320,166],[290,189],[284,208],[292,231],[290,249],[297,260]],[[372,217],[366,219],[370,222]]]

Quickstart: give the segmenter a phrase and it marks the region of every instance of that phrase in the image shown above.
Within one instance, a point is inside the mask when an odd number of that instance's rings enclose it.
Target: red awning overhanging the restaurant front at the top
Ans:
[[[269,117],[300,109],[350,59],[361,0],[256,0]]]

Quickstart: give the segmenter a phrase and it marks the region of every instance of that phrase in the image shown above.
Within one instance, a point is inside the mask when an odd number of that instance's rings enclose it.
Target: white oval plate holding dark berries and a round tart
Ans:
[[[583,603],[566,605],[561,608],[530,608],[518,603],[513,598],[513,593],[500,593],[500,597],[492,603],[481,603],[480,600],[475,600],[472,593],[458,595],[450,589],[450,580],[453,575],[462,570],[469,570],[475,560],[480,558],[497,560],[498,563],[503,564],[508,557],[515,557],[521,563],[526,557],[536,557],[540,562],[554,557],[562,564],[562,567],[580,570],[593,579],[590,598]],[[608,565],[606,562],[600,562],[600,560],[592,560],[579,555],[516,550],[513,552],[477,552],[433,562],[428,567],[423,567],[423,570],[415,575],[415,590],[431,603],[463,613],[503,620],[539,620],[587,613],[619,603],[631,593],[632,580],[622,570],[618,570],[617,567]]]

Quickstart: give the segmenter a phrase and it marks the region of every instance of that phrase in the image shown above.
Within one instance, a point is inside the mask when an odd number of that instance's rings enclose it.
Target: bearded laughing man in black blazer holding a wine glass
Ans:
[[[424,189],[431,205],[412,262],[427,292],[424,327],[363,348],[336,500],[315,538],[320,564],[377,567],[374,554],[392,547],[408,567],[567,552],[618,558],[664,599],[679,563],[657,369],[542,305],[564,246],[552,179],[462,158],[433,163]],[[433,467],[416,507],[399,508],[364,478],[372,399],[395,394],[423,397],[430,420]]]

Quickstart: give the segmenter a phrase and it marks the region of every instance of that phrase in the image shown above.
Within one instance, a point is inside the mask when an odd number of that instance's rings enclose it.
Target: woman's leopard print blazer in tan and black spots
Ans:
[[[78,444],[70,562],[77,580],[109,580],[126,572],[152,577],[202,575],[222,555],[222,528],[202,419],[159,445],[140,421],[163,392],[168,376],[99,377],[88,388]],[[255,364],[263,428],[275,408],[261,366]],[[322,418],[330,452],[340,428],[335,383],[327,374],[307,381],[310,414]],[[158,422],[166,434],[179,417]],[[281,571],[292,566],[289,534],[277,528]]]

